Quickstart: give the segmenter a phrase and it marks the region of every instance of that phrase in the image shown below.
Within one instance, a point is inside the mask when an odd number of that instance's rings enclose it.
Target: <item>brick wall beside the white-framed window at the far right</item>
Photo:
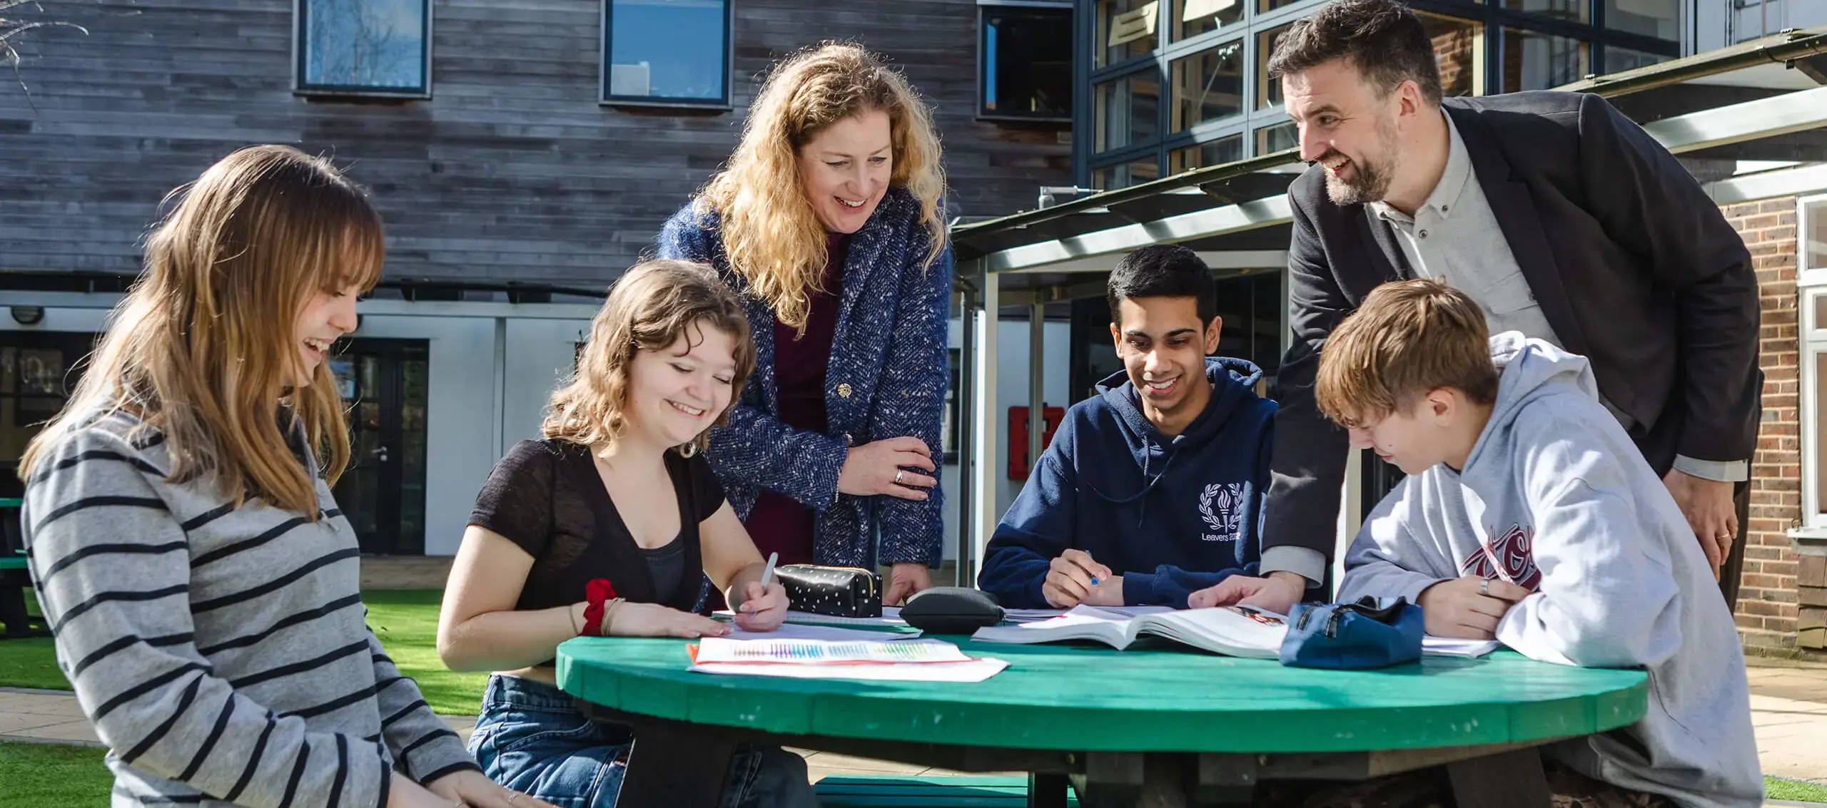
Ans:
[[[1794,197],[1721,208],[1745,237],[1758,272],[1761,334],[1758,363],[1763,367],[1763,425],[1752,460],[1750,529],[1745,576],[1736,604],[1737,629],[1750,651],[1798,647],[1803,620],[1822,624],[1823,609],[1803,609],[1800,578],[1820,578],[1820,558],[1807,565],[1790,549],[1789,529],[1801,520],[1801,429],[1798,401],[1796,339],[1796,201]],[[1827,582],[1805,580],[1822,585]],[[1820,647],[1820,631],[1809,640]]]

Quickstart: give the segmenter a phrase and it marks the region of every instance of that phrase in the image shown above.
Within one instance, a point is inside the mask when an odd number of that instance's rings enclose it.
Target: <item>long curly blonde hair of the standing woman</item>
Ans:
[[[729,266],[795,328],[806,325],[826,263],[824,226],[800,186],[798,150],[824,128],[870,109],[888,113],[888,184],[919,201],[930,233],[921,266],[930,266],[946,243],[939,135],[914,86],[861,46],[826,42],[775,66],[749,108],[729,168],[711,177],[700,195],[700,204],[718,213]]]

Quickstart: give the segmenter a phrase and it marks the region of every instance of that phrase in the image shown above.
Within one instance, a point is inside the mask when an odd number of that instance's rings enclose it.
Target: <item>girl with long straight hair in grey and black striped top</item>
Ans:
[[[329,162],[225,157],[174,193],[22,458],[33,584],[115,808],[548,808],[481,773],[364,622],[325,357],[382,255]]]

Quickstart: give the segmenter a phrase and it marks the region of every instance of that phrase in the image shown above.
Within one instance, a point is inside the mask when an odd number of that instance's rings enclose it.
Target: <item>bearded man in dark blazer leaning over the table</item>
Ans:
[[[1277,379],[1266,576],[1195,604],[1286,613],[1321,596],[1303,589],[1332,560],[1348,449],[1314,407],[1314,372],[1332,328],[1405,277],[1471,294],[1493,334],[1588,356],[1734,602],[1761,412],[1758,281],[1694,177],[1597,95],[1442,98],[1432,42],[1396,0],[1321,7],[1268,69],[1312,168],[1288,190],[1294,345]]]

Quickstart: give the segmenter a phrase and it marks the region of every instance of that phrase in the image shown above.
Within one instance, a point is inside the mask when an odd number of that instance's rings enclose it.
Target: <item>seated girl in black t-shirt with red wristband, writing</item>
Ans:
[[[753,367],[742,303],[707,266],[638,264],[552,396],[544,440],[495,463],[451,567],[438,657],[497,671],[470,737],[497,782],[561,806],[616,803],[632,730],[590,722],[554,686],[561,642],[725,635],[698,613],[703,578],[742,629],[786,618],[786,591],[764,591],[762,556],[698,454]],[[725,806],[817,804],[789,751],[740,748],[729,772]]]

